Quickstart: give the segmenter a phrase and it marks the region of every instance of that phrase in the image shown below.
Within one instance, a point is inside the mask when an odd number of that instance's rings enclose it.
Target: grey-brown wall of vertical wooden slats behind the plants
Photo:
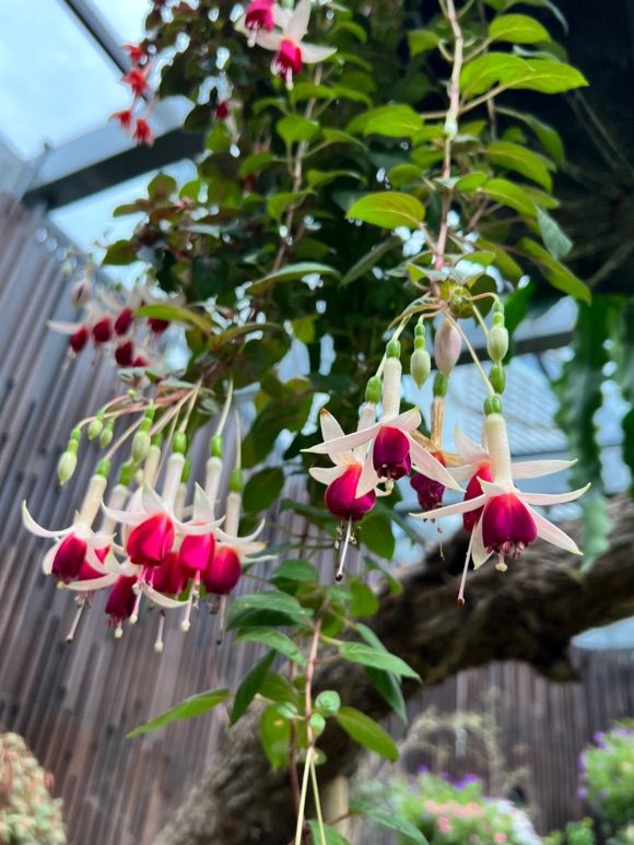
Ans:
[[[62,491],[57,459],[74,421],[111,395],[113,372],[90,353],[64,369],[66,340],[44,328],[48,318],[73,315],[60,279],[60,242],[36,214],[0,198],[0,730],[22,733],[54,773],[71,845],[151,845],[208,763],[222,713],[141,739],[126,740],[125,732],[202,689],[235,685],[254,650],[218,649],[204,612],[186,636],[169,620],[162,657],[152,648],[154,613],[117,643],[104,627],[103,597],[75,643],[63,644],[72,601],[42,575],[47,543],[22,528],[19,506],[27,498],[49,527],[69,523],[93,456]],[[287,513],[278,521],[302,528]],[[542,830],[580,813],[576,756],[592,732],[634,714],[630,657],[579,659],[582,684],[548,683],[513,664],[467,672],[461,681],[468,707],[482,706],[490,684],[503,691],[498,718],[505,747],[514,749],[509,763],[531,770],[525,786]],[[457,683],[424,690],[411,715],[432,704],[455,709]]]

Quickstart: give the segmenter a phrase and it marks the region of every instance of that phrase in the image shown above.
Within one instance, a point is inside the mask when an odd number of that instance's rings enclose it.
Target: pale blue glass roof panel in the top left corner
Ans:
[[[0,130],[20,156],[97,129],[128,105],[118,71],[61,0],[0,0]]]

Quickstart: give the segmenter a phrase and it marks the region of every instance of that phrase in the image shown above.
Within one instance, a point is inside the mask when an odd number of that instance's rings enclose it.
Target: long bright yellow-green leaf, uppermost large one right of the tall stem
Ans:
[[[494,85],[506,89],[527,89],[542,94],[587,85],[576,68],[554,59],[520,59],[509,52],[488,52],[470,61],[460,74],[460,87],[467,98],[483,94]]]

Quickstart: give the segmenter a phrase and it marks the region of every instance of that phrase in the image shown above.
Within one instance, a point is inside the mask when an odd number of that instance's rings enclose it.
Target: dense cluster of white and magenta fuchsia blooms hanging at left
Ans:
[[[152,419],[151,413],[146,419]],[[138,443],[140,441],[133,442],[133,455]],[[23,504],[25,527],[38,537],[55,540],[43,560],[45,574],[52,575],[60,586],[78,594],[78,612],[69,642],[74,637],[82,611],[93,603],[95,594],[104,589],[108,590],[105,612],[117,637],[121,636],[126,620],[131,624],[138,621],[145,599],[161,610],[155,648],[162,652],[164,611],[179,610],[180,629],[187,631],[192,610],[198,608],[200,598],[207,596],[210,609],[221,611],[221,638],[226,597],[237,585],[243,564],[265,544],[256,540],[263,523],[250,536],[238,537],[239,470],[232,473],[225,517],[215,518],[223,470],[222,438],[214,437],[212,444],[204,489],[195,486],[190,508],[185,506],[188,470],[184,434],[174,436],[161,492],[156,482],[165,456],[157,444],[152,444],[141,451],[144,459],[136,473],[137,490],[131,492],[132,473],[130,466],[124,465],[119,483],[113,489],[107,504],[104,494],[109,461],[102,461],[68,528],[58,531],[43,528]],[[99,510],[102,519],[95,528]],[[188,512],[190,518],[186,519]]]

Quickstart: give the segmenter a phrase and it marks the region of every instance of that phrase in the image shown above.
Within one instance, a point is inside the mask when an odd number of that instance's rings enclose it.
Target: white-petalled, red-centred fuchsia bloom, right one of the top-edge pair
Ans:
[[[273,14],[278,15],[275,23],[281,26],[281,30],[279,32],[262,32],[260,30],[256,35],[256,44],[266,50],[275,52],[271,71],[280,77],[287,87],[293,86],[293,78],[300,73],[304,64],[325,61],[336,52],[334,48],[331,47],[317,47],[303,43],[304,36],[308,32],[310,8],[310,0],[300,0],[293,13],[289,15],[277,13],[275,7],[273,7]],[[238,22],[238,28],[240,26],[244,30],[246,22]]]

